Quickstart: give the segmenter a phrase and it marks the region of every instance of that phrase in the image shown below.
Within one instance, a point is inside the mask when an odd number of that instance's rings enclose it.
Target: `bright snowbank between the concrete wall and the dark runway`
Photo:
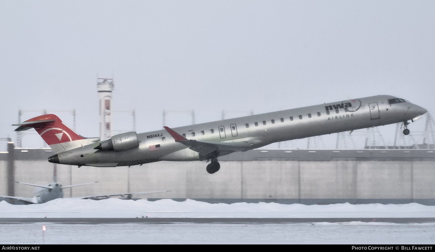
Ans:
[[[44,204],[0,202],[0,218],[435,218],[435,206],[411,204],[211,204],[187,199],[55,199]]]

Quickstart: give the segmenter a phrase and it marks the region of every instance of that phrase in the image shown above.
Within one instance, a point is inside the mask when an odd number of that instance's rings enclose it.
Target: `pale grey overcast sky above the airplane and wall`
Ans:
[[[0,137],[15,140],[18,109],[76,109],[77,132],[99,136],[97,75],[114,76],[113,109],[136,109],[137,132],[161,129],[162,109],[201,123],[377,94],[433,112],[434,13],[434,1],[3,0]]]

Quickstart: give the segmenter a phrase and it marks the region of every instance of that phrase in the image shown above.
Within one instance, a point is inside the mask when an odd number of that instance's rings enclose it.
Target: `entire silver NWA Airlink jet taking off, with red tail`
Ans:
[[[23,123],[34,128],[57,154],[49,162],[77,166],[132,166],[157,161],[211,160],[207,172],[220,169],[218,157],[280,141],[402,122],[409,134],[427,110],[395,96],[347,99],[297,109],[225,119],[147,133],[127,132],[110,139],[85,138],[48,114]]]

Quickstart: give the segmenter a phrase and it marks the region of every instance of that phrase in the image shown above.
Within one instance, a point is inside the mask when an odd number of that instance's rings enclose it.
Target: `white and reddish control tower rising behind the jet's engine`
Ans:
[[[112,91],[114,90],[113,79],[97,79],[98,98],[100,99],[100,139],[109,139],[111,132]]]

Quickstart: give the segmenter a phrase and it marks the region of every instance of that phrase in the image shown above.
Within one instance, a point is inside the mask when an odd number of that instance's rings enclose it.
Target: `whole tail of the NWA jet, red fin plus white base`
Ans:
[[[15,131],[35,129],[55,153],[100,141],[100,138],[80,136],[54,114],[33,117],[23,123],[13,124],[13,126],[19,126]]]

